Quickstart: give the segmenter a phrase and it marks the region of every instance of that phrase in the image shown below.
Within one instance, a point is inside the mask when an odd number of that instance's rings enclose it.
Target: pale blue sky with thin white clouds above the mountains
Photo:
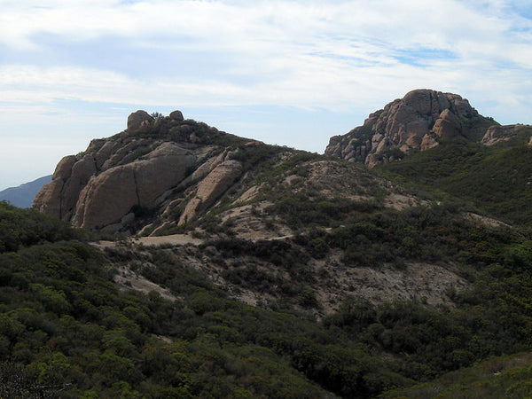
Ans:
[[[0,0],[0,190],[144,109],[323,153],[410,90],[532,123],[529,0]]]

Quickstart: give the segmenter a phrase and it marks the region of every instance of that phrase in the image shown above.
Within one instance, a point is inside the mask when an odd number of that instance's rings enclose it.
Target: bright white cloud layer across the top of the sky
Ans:
[[[21,20],[25,23],[21,24]],[[442,51],[458,62],[505,61],[529,67],[532,58],[527,21],[518,19],[513,9],[507,9],[502,2],[102,0],[47,2],[47,7],[42,7],[28,1],[4,7],[0,41],[13,52],[27,49],[36,57],[41,52],[42,59],[50,51],[42,42],[47,35],[59,40],[64,51],[75,52],[79,46],[94,43],[98,47],[85,48],[83,60],[92,64],[84,67],[104,70],[99,65],[102,61],[98,60],[98,52],[106,51],[106,41],[107,45],[118,42],[124,49],[135,49],[148,80],[153,76],[145,67],[145,60],[140,59],[143,53],[153,63],[158,59],[174,63],[166,71],[155,68],[158,74],[184,79],[189,75],[180,73],[190,73],[183,66],[187,59],[194,64],[194,57],[208,56],[218,80],[239,78],[249,84],[292,80],[301,76],[301,70],[302,75],[319,78],[318,68],[326,79],[326,74],[337,74],[339,69],[350,69],[352,73],[367,73],[367,66],[392,69],[398,63],[409,63],[401,58],[409,51],[420,55],[425,51],[419,59],[427,66],[433,63],[431,55]],[[120,48],[113,47],[113,51],[120,52]],[[62,57],[64,61],[65,56]],[[69,61],[75,65],[74,59]],[[119,67],[113,66],[111,72],[117,72]],[[223,70],[218,71],[218,67]],[[345,76],[344,73],[340,78]],[[191,78],[205,79],[194,74]]]

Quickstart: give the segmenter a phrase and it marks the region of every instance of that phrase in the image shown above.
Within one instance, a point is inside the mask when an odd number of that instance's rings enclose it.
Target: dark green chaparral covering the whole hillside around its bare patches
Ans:
[[[176,139],[196,133],[199,140],[232,140],[192,121],[154,121],[153,129],[163,128],[168,131],[161,134]],[[532,349],[529,231],[468,220],[463,212],[471,207],[458,200],[397,211],[381,200],[331,199],[305,185],[308,161],[317,155],[293,153],[274,163],[286,150],[237,139],[231,145],[234,157],[254,171],[251,178],[273,187],[278,176],[295,176],[292,185],[275,186],[268,217],[302,232],[293,239],[208,241],[198,252],[207,256],[210,251],[216,266],[212,275],[195,269],[192,250],[179,259],[176,248],[101,253],[64,223],[0,204],[0,396],[376,397],[445,378],[489,356]],[[404,179],[424,174],[424,184],[454,187],[454,195],[488,209],[489,199],[468,173],[488,181],[481,168],[491,163],[510,181],[521,178],[520,170],[528,174],[526,166],[514,171],[516,164],[503,154],[523,161],[529,150],[456,141],[411,158],[426,160],[423,170],[404,160],[395,164],[403,165],[395,172]],[[351,167],[339,163],[338,168]],[[349,170],[370,178],[369,172]],[[292,192],[294,187],[299,191]],[[526,193],[505,190],[505,195]],[[509,207],[517,209],[519,201]],[[204,225],[231,229],[231,223],[219,222],[213,212]],[[318,322],[312,315],[320,306],[319,275],[310,265],[327,262],[332,254],[342,270],[384,263],[452,265],[470,286],[450,290],[453,303],[435,309],[349,297]],[[164,287],[173,299],[156,291],[119,290],[112,278],[124,268]],[[219,276],[235,289],[278,300],[271,309],[235,301],[213,282]],[[479,379],[481,387],[465,387],[465,392],[484,397],[489,386],[509,397],[529,395],[529,364],[495,372],[502,378]],[[408,392],[429,397],[426,389]]]

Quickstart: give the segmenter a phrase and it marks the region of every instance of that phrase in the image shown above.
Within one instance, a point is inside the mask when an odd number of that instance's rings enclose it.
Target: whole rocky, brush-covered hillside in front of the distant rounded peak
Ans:
[[[37,214],[3,204],[17,252],[0,257],[0,378],[72,396],[375,397],[532,350],[530,231],[487,217],[474,186],[528,160],[528,131],[470,129],[370,169],[180,113],[128,125],[62,160],[35,201],[113,241],[35,238],[17,223]],[[497,176],[494,198],[519,209],[505,192],[526,180]]]

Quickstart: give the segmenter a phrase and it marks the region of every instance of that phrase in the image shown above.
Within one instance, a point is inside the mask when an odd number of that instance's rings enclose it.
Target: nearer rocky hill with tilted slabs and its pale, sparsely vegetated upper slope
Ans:
[[[238,214],[239,236],[259,231],[271,237],[290,234],[294,226],[270,220],[265,229],[255,211],[294,193],[319,200],[379,198],[389,206],[416,202],[359,166],[235,137],[183,117],[153,119],[138,111],[129,119],[137,117],[148,119],[61,160],[35,208],[90,230],[141,235],[201,227],[207,214],[222,223]]]

